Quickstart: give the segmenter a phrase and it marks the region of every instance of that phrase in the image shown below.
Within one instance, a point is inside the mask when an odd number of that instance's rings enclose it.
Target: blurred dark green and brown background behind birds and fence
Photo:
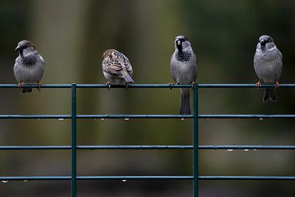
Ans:
[[[1,84],[15,84],[18,42],[36,44],[44,84],[105,84],[101,56],[129,57],[136,84],[171,82],[173,40],[187,36],[199,83],[254,83],[258,37],[284,56],[294,83],[295,1],[52,0],[0,2]],[[78,89],[79,114],[178,114],[178,89]],[[276,103],[255,89],[200,89],[200,114],[294,114],[294,89]],[[69,89],[1,89],[1,114],[69,114]],[[199,120],[201,145],[294,145],[294,120]],[[0,145],[69,145],[69,120],[1,120]],[[189,145],[191,120],[79,120],[79,145]],[[79,175],[189,175],[192,151],[78,151]],[[202,175],[295,175],[294,151],[200,151]],[[70,174],[70,151],[0,151],[0,176]],[[294,196],[294,181],[200,181],[200,196]],[[70,182],[0,182],[0,196],[69,196]],[[78,196],[192,196],[190,181],[79,181]]]

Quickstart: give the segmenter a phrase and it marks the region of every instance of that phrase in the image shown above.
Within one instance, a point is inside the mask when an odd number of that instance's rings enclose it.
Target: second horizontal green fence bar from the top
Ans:
[[[0,115],[0,119],[70,119],[71,115]],[[186,119],[192,118],[192,115],[77,115],[79,119]],[[260,115],[260,114],[206,114],[199,115],[202,119],[228,119],[228,118],[252,118],[252,119],[270,119],[270,118],[295,118],[295,115]]]

